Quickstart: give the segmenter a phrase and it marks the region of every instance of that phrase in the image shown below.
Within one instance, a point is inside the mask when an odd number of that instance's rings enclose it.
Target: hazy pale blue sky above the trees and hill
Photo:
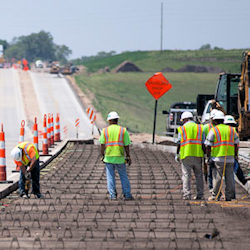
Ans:
[[[0,39],[50,32],[70,59],[100,51],[250,47],[250,0],[0,0]]]

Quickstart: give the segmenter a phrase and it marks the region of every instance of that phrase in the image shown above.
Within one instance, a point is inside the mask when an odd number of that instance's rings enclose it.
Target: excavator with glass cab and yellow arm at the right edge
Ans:
[[[226,114],[233,115],[238,123],[241,140],[250,139],[250,52],[242,56],[241,73],[221,73],[215,100]]]

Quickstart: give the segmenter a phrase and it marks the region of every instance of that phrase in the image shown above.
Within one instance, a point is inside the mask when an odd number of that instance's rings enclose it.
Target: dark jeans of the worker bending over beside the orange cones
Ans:
[[[40,165],[39,159],[36,161],[33,169],[31,170],[31,179],[32,179],[32,193],[40,194]],[[25,192],[25,176],[20,170],[20,178],[19,178],[19,194]]]

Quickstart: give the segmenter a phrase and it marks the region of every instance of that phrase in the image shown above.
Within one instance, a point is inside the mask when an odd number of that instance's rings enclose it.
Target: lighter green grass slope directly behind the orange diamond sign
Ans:
[[[158,101],[157,134],[165,132],[166,116],[162,110],[178,101],[196,101],[197,94],[214,94],[218,74],[164,74],[173,88]],[[94,106],[104,118],[108,112],[119,113],[120,124],[133,132],[152,133],[155,100],[148,93],[145,82],[152,73],[118,73],[76,76],[80,88],[95,95]]]

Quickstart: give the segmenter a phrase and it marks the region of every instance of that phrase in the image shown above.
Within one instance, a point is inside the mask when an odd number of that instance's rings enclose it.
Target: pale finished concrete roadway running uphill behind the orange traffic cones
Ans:
[[[44,114],[53,113],[55,123],[56,114],[59,113],[62,139],[76,138],[76,118],[80,119],[78,138],[92,138],[92,124],[77,101],[69,83],[57,75],[39,72],[29,72],[29,74],[40,110],[39,114],[36,114],[39,122],[38,129],[43,130]],[[27,118],[28,114],[25,113],[24,107],[27,106],[29,100],[24,98],[25,94],[22,91],[25,91],[25,88],[21,88],[18,70],[0,69],[0,88],[0,123],[3,123],[5,131],[7,179],[9,179],[12,170],[15,169],[10,151],[19,140],[20,123],[21,120]],[[29,109],[32,108],[32,105],[28,106]],[[31,126],[29,127],[31,128]],[[93,132],[94,135],[97,135],[96,127],[93,128]],[[27,126],[25,126],[25,140],[33,140]],[[41,140],[39,144],[41,149]]]

